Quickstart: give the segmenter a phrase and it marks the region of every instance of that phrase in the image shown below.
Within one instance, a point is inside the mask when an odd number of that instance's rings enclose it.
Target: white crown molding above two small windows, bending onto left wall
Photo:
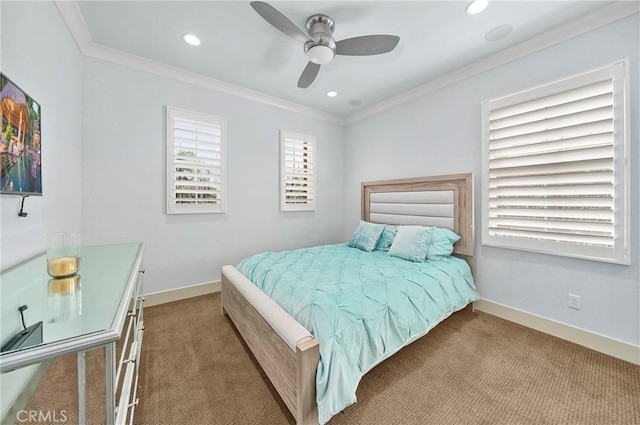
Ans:
[[[93,41],[93,38],[89,33],[89,29],[87,28],[87,24],[82,16],[82,13],[80,12],[80,8],[77,2],[75,0],[54,1],[56,7],[58,8],[58,12],[62,16],[62,19],[67,25],[71,36],[78,45],[78,48],[80,49],[82,54],[87,57],[123,65],[129,68],[138,69],[185,83],[194,84],[200,87],[205,87],[222,93],[248,99],[254,102],[284,109],[289,112],[294,112],[323,121],[328,121],[334,124],[345,124],[344,118],[338,115],[319,111],[317,109],[280,99],[275,96],[270,96],[255,90],[236,86],[234,84],[216,80],[214,78],[205,77],[194,72],[186,71],[184,69],[169,66],[157,61],[145,59],[140,56],[132,55],[130,53],[125,53],[120,50],[97,44]]]

